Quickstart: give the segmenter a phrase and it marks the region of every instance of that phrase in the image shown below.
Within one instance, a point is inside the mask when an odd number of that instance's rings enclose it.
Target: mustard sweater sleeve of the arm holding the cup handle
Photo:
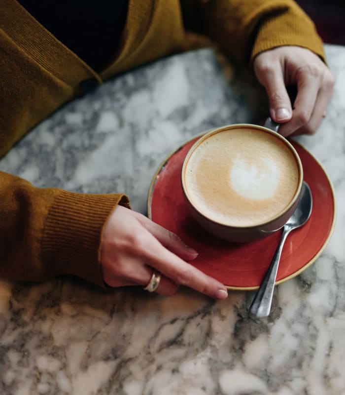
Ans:
[[[207,35],[240,64],[282,45],[323,45],[307,14],[293,0],[181,0],[186,29]]]

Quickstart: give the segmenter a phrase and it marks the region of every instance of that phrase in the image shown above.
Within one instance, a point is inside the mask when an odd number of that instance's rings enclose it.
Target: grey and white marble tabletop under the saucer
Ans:
[[[73,278],[1,281],[1,394],[345,394],[345,48],[325,49],[335,94],[318,133],[298,140],[333,182],[337,222],[317,261],[276,287],[272,314],[248,316],[253,291],[214,301]],[[126,192],[145,213],[168,153],[210,127],[264,117],[263,97],[213,50],[179,54],[65,106],[0,169],[39,187]]]

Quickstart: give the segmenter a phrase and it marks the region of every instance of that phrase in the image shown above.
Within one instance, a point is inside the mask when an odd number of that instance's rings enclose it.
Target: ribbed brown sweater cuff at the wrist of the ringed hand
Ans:
[[[68,191],[55,197],[42,239],[42,261],[52,275],[74,275],[106,287],[100,259],[102,232],[117,204],[129,207],[128,197]]]

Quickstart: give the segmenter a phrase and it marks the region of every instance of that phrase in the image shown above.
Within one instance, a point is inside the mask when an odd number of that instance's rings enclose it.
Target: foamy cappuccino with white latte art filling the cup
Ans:
[[[186,196],[201,214],[226,226],[255,227],[291,203],[300,172],[279,136],[237,125],[201,141],[183,177]]]

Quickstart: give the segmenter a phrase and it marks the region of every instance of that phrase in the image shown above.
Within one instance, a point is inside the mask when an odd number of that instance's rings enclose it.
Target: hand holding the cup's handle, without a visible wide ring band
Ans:
[[[322,60],[309,49],[281,46],[254,59],[257,79],[267,91],[271,117],[283,136],[313,134],[325,117],[334,87],[334,77]],[[296,85],[291,108],[286,85]]]

